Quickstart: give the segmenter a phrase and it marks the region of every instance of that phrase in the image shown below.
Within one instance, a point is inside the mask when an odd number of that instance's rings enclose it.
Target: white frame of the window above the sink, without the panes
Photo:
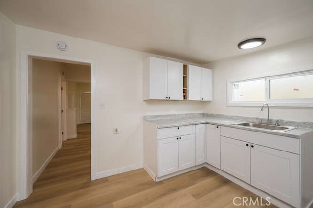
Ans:
[[[301,99],[270,99],[270,80],[285,77],[294,77],[300,75],[313,75],[313,67],[310,70],[281,72],[275,75],[247,77],[245,79],[227,80],[227,106],[262,106],[263,103],[268,103],[270,106],[277,107],[313,107],[313,98]],[[238,82],[253,81],[265,79],[265,101],[233,101],[233,84]]]

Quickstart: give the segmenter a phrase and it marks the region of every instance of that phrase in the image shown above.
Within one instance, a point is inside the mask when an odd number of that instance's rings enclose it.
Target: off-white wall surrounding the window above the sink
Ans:
[[[236,47],[236,46],[234,46]],[[313,38],[260,51],[257,53],[212,62],[205,67],[213,69],[213,101],[206,103],[205,113],[267,117],[260,107],[233,107],[226,105],[226,80],[260,77],[278,71],[313,66]],[[271,107],[270,117],[275,119],[313,121],[313,108]]]

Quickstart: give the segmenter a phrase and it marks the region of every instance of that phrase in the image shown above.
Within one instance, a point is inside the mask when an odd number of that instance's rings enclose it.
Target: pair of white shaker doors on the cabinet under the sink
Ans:
[[[221,136],[221,169],[294,207],[299,207],[298,154]]]

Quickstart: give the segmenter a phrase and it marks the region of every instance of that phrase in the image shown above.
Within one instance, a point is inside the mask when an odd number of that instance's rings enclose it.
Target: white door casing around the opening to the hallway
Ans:
[[[21,103],[18,107],[21,112],[20,135],[17,136],[17,200],[26,199],[33,191],[32,183],[32,58],[62,61],[67,63],[88,64],[91,68],[91,180],[95,179],[95,61],[92,59],[67,57],[54,54],[45,54],[31,51],[21,52]]]

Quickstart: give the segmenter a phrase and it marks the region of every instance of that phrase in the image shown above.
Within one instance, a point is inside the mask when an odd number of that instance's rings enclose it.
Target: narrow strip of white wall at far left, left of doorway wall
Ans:
[[[15,196],[15,25],[0,12],[0,207]]]

